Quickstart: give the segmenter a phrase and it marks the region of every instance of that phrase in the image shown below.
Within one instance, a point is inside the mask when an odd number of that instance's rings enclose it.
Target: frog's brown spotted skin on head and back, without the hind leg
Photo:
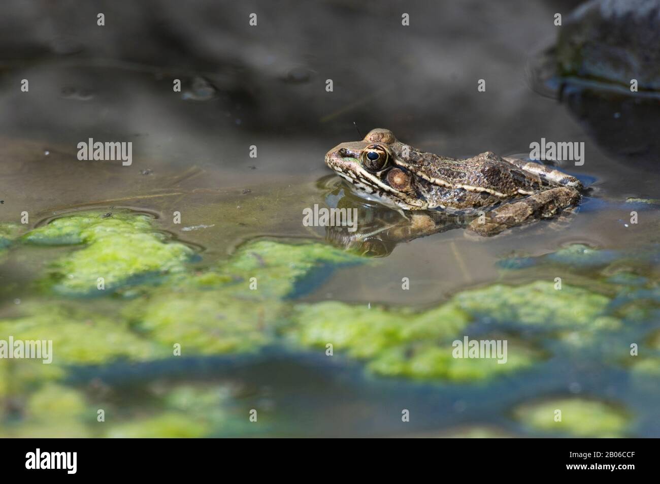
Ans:
[[[362,151],[374,143],[390,154],[378,172],[360,162]],[[404,145],[388,129],[373,129],[362,141],[338,145],[325,162],[357,191],[407,210],[470,212],[560,186],[581,188],[576,178],[558,170],[490,151],[463,160],[425,153]]]

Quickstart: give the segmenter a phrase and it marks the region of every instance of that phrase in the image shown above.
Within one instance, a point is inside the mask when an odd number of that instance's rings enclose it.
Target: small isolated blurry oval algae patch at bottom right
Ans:
[[[556,410],[561,411],[561,421],[555,421]],[[630,417],[622,409],[584,398],[523,403],[513,415],[530,430],[576,437],[619,437],[630,427]]]

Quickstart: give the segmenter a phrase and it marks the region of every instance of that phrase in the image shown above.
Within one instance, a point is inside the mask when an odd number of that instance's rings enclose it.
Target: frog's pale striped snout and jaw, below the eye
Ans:
[[[415,193],[406,193],[387,184],[385,174],[391,166],[378,172],[366,170],[360,162],[361,153],[361,148],[355,149],[339,145],[325,155],[325,164],[335,170],[335,173],[346,180],[362,197],[406,210],[428,208],[428,203],[423,199],[418,199]]]

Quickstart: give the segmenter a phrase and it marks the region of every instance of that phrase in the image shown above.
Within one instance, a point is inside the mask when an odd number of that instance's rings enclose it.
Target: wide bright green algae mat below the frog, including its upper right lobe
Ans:
[[[463,337],[467,326],[480,318],[508,326],[564,329],[559,341],[575,347],[595,345],[603,330],[620,329],[620,320],[609,314],[610,298],[587,289],[535,281],[529,285],[491,285],[463,291],[449,302],[429,310],[386,309],[341,302],[299,304],[292,312],[294,324],[283,332],[302,347],[325,348],[366,361],[366,367],[383,376],[422,380],[480,381],[528,368],[543,352],[510,341],[508,361],[457,359],[451,339]],[[480,337],[480,339],[492,339]]]

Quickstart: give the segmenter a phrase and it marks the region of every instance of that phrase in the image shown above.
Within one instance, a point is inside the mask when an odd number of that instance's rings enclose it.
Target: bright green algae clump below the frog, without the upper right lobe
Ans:
[[[510,347],[506,364],[496,359],[461,359],[452,355],[451,339],[464,331],[469,316],[455,304],[423,312],[367,308],[341,302],[296,307],[289,339],[304,347],[333,345],[333,354],[366,360],[382,376],[420,380],[484,380],[531,366],[539,353],[520,343]],[[490,338],[486,338],[490,339]]]

